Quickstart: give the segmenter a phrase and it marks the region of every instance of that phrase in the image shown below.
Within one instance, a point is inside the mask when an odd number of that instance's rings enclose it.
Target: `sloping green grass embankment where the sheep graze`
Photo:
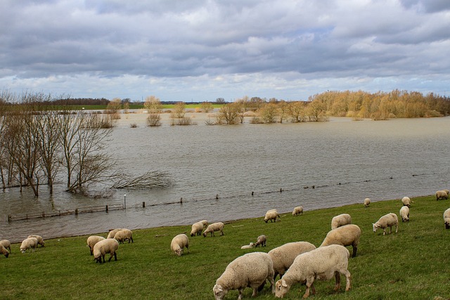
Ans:
[[[269,252],[285,242],[304,240],[321,244],[333,216],[352,215],[362,229],[358,256],[349,260],[352,289],[333,292],[334,282],[316,282],[312,299],[448,299],[450,230],[442,214],[448,200],[413,198],[411,221],[399,224],[399,232],[383,236],[372,223],[383,214],[399,214],[400,200],[305,211],[303,216],[286,213],[281,221],[264,223],[264,217],[226,223],[224,236],[189,237],[191,253],[175,256],[169,250],[174,235],[190,232],[191,226],[134,230],[134,243],[121,244],[118,260],[94,263],[86,237],[46,240],[46,247],[21,254],[13,244],[8,259],[0,258],[2,299],[213,299],[212,287],[227,264],[252,252]],[[70,217],[70,216],[66,216]],[[93,215],[95,218],[95,215]],[[267,247],[240,249],[267,236]],[[101,233],[105,236],[105,233]],[[352,252],[349,247],[350,253]],[[107,256],[108,258],[108,256]],[[294,285],[285,299],[299,299],[304,285]],[[252,290],[245,289],[244,299]],[[231,291],[225,299],[237,299]],[[275,299],[266,285],[257,299]]]

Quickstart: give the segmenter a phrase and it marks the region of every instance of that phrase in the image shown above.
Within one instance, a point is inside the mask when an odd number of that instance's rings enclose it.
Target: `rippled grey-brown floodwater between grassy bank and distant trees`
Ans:
[[[162,126],[150,128],[145,114],[122,115],[108,143],[117,169],[133,176],[167,171],[173,180],[169,188],[117,190],[98,199],[65,193],[63,185],[53,196],[41,186],[39,198],[29,190],[0,191],[0,239],[229,221],[264,216],[273,208],[362,205],[366,197],[374,202],[450,187],[450,117],[301,124],[250,124],[246,119],[235,126],[208,126],[210,116],[188,116],[197,124],[170,126],[164,114]],[[181,197],[182,204],[165,204]],[[7,221],[8,214],[124,202],[127,209],[108,213]]]

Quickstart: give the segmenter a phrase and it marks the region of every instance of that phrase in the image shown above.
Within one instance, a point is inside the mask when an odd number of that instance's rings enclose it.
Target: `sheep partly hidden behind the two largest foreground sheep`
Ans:
[[[295,257],[314,249],[316,249],[316,246],[310,242],[288,242],[271,249],[269,256],[274,262],[274,280],[278,274],[280,278],[283,277],[285,271],[293,264]]]

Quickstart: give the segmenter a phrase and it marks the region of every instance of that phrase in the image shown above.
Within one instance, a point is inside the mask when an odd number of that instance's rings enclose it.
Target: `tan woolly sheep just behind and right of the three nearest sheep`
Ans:
[[[352,245],[352,257],[355,257],[356,251],[358,251],[359,237],[361,237],[361,228],[359,228],[359,226],[354,224],[344,225],[330,230],[320,247],[328,246],[330,244],[340,244],[344,247]]]

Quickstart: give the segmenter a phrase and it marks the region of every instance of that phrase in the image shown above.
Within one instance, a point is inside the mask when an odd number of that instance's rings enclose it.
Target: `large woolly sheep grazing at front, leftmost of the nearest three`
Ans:
[[[231,289],[238,289],[240,300],[245,287],[251,287],[252,296],[256,296],[258,287],[264,287],[266,280],[269,280],[271,292],[274,294],[274,265],[269,254],[264,252],[244,254],[231,261],[224,273],[217,278],[212,288],[214,299],[224,299]]]

